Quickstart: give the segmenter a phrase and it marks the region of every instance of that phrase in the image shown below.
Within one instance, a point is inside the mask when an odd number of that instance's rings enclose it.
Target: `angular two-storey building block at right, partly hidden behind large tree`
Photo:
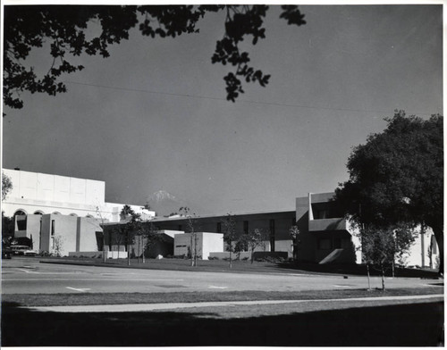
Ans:
[[[296,199],[299,244],[297,260],[302,262],[362,262],[358,229],[343,217],[333,202],[333,192],[309,193]],[[406,266],[437,268],[439,250],[430,228],[415,229],[409,252],[396,262]]]

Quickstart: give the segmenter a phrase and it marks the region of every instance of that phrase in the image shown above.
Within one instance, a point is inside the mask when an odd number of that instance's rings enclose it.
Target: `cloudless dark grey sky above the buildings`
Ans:
[[[63,77],[68,93],[4,109],[4,168],[105,180],[109,202],[163,189],[202,214],[293,209],[348,179],[351,147],[395,109],[443,113],[441,5],[300,9],[308,23],[292,27],[271,6],[266,39],[246,47],[272,78],[235,104],[227,67],[211,63],[223,13],[196,35],[133,30],[111,57],[78,58],[86,69]],[[51,60],[39,50],[27,63],[45,72]]]

